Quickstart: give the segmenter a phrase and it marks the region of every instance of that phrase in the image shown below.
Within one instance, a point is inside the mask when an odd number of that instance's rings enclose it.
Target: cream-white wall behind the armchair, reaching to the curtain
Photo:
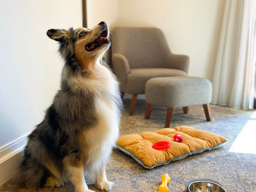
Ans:
[[[156,26],[173,53],[190,57],[189,75],[212,80],[224,0],[121,0],[121,26]]]

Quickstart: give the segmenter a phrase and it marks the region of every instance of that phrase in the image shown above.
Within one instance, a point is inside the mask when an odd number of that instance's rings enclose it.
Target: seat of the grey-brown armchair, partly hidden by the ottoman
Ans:
[[[145,93],[145,83],[154,77],[173,77],[173,76],[187,76],[187,73],[178,69],[166,68],[144,68],[144,69],[130,69],[127,75],[126,93]]]

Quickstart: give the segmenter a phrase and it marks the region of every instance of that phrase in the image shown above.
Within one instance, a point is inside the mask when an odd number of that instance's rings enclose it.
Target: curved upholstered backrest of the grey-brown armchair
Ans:
[[[115,27],[112,54],[120,53],[130,68],[161,68],[170,53],[164,33],[158,28]]]

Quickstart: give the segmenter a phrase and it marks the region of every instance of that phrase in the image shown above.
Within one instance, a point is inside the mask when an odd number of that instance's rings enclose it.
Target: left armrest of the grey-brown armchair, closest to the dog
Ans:
[[[122,87],[126,85],[127,75],[130,73],[129,62],[125,56],[120,53],[114,53],[112,55],[112,65],[122,90]]]

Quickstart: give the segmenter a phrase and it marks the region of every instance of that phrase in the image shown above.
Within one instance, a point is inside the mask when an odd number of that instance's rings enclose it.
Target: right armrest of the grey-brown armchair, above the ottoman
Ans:
[[[168,53],[166,57],[166,68],[179,69],[188,73],[189,56]]]

